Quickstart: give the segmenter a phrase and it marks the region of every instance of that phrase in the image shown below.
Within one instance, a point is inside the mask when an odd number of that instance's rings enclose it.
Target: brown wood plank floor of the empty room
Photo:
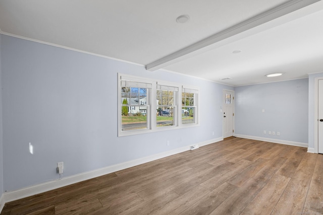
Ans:
[[[323,155],[236,137],[5,204],[1,214],[322,214]]]

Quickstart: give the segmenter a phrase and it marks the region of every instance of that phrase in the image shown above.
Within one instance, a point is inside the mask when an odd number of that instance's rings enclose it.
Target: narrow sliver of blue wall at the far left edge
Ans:
[[[2,64],[1,64],[1,41],[0,34],[0,90],[2,91]],[[0,91],[0,197],[4,193],[4,160],[3,160],[3,133],[2,133],[2,92]]]

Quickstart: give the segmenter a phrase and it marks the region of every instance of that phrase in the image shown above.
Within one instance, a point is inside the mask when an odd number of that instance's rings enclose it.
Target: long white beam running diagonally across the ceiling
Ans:
[[[207,37],[199,42],[196,42],[192,45],[189,45],[181,50],[178,50],[170,55],[167,55],[163,58],[157,59],[154,62],[151,62],[146,65],[146,69],[148,71],[154,71],[160,68],[164,68],[165,66],[171,65],[175,62],[178,62],[182,59],[185,59],[185,56],[193,53],[199,49],[205,48],[209,45],[215,44],[222,40],[225,40],[229,37],[247,31],[251,28],[262,25],[266,22],[277,19],[286,14],[292,13],[296,10],[309,6],[313,3],[320,2],[321,0],[291,0],[283,5],[280,5],[276,8],[268,10],[260,15],[257,15],[251,19],[248,19],[244,22],[241,22],[237,25],[234,25],[224,31],[221,31],[217,34],[214,34],[210,37]]]

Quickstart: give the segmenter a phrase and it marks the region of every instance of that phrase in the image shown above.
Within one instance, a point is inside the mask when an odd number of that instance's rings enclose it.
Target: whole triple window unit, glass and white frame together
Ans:
[[[197,99],[193,86],[118,74],[118,136],[196,126]]]

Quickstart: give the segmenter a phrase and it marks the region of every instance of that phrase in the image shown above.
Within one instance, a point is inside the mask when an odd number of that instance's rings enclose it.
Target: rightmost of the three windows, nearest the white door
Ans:
[[[182,124],[197,123],[197,96],[198,90],[182,88]]]

